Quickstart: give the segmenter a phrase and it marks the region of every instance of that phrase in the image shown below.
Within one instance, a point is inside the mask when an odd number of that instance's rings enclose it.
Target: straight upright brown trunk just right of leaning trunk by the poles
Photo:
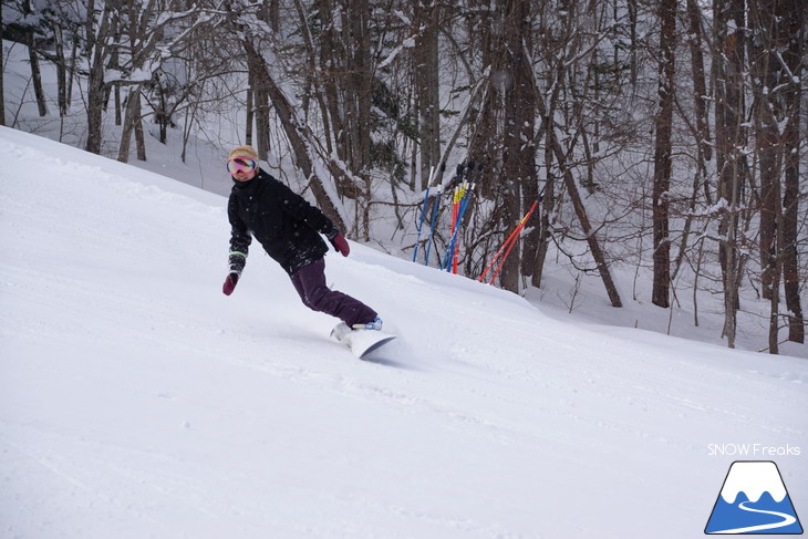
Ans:
[[[673,123],[674,50],[676,0],[663,0],[660,4],[660,112],[656,116],[656,144],[654,151],[653,234],[654,279],[653,304],[670,307],[671,294],[671,238],[669,231],[669,200],[671,190],[671,131]]]

